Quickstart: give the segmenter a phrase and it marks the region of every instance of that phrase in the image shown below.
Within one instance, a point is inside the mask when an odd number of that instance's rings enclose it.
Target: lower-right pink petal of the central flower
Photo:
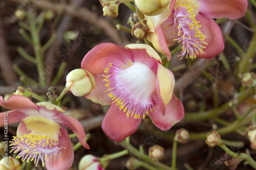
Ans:
[[[160,109],[157,109],[157,112],[151,112],[149,116],[157,128],[167,131],[184,117],[184,107],[175,94],[173,94],[172,100],[166,106],[165,115],[162,115]]]

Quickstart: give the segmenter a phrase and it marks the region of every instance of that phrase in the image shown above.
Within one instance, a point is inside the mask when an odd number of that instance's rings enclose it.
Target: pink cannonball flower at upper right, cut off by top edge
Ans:
[[[247,0],[172,0],[160,15],[147,16],[148,39],[162,54],[168,46],[182,44],[178,57],[212,58],[224,50],[220,27],[213,18],[238,19],[247,10]]]

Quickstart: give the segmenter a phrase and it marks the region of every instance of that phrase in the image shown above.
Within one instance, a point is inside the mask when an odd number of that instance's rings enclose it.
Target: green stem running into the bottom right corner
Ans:
[[[233,158],[244,159],[248,162],[248,164],[250,164],[254,169],[256,169],[256,162],[252,159],[252,157],[249,154],[245,154],[245,153],[238,154],[238,153],[232,152],[226,147],[226,145],[222,142],[222,140],[219,141],[218,145],[219,147],[221,147],[221,149],[223,149],[226,153],[228,153]]]

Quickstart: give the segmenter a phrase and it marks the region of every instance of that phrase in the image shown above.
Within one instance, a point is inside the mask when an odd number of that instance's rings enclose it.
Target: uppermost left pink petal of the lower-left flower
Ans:
[[[4,101],[3,96],[0,96],[0,106],[26,114],[38,114],[37,106],[22,95],[11,95],[7,101]]]

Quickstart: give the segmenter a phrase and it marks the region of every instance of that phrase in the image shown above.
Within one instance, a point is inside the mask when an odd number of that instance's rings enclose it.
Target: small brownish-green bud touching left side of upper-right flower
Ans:
[[[148,37],[148,27],[146,26],[146,20],[138,20],[135,25],[132,26],[132,36],[138,40]]]

